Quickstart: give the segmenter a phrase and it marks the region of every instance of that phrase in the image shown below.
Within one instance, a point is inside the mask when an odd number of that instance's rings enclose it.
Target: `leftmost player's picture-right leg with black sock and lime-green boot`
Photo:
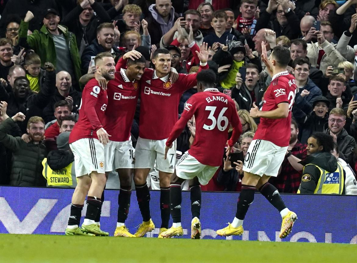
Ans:
[[[108,236],[109,233],[100,230],[96,225],[95,219],[101,207],[102,200],[99,198],[103,194],[106,184],[105,174],[99,174],[96,171],[91,172],[92,183],[88,191],[87,212],[82,224],[82,231],[100,236]]]

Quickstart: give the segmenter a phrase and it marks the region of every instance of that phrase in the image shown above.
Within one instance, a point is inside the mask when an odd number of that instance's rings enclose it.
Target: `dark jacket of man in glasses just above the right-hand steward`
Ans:
[[[330,134],[330,129],[326,129],[326,133]],[[356,141],[351,136],[348,135],[345,129],[342,129],[340,134],[337,135],[337,145],[338,151],[340,153],[340,158],[346,161],[351,167],[355,167],[355,149]]]

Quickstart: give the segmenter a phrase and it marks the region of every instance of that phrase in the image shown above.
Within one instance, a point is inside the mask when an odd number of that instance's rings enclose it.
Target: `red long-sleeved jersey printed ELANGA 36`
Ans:
[[[201,164],[220,166],[230,124],[234,128],[228,141],[230,146],[237,142],[242,133],[235,103],[216,88],[193,94],[187,100],[181,118],[175,124],[166,145],[171,145],[180,135],[192,115],[195,115],[196,120],[196,136],[188,153]]]

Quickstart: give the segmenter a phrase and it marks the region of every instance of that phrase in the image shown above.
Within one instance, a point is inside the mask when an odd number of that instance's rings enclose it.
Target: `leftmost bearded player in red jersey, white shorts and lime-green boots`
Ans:
[[[94,59],[96,72],[105,78],[105,84],[114,79],[115,62],[110,53],[99,53]],[[100,230],[98,213],[102,207],[102,194],[106,184],[104,145],[109,142],[103,127],[104,114],[108,105],[106,90],[91,79],[84,87],[79,110],[79,120],[69,137],[74,154],[77,186],[72,196],[71,212],[66,235],[108,236]],[[87,212],[79,228],[84,200],[87,197]]]

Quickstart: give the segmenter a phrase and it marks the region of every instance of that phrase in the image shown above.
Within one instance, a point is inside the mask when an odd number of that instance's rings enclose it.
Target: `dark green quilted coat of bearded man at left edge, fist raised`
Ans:
[[[0,124],[0,142],[12,151],[12,168],[10,185],[45,186],[42,177],[42,160],[46,157],[46,146],[43,143],[25,143],[21,137],[9,134],[17,125],[11,118]]]

